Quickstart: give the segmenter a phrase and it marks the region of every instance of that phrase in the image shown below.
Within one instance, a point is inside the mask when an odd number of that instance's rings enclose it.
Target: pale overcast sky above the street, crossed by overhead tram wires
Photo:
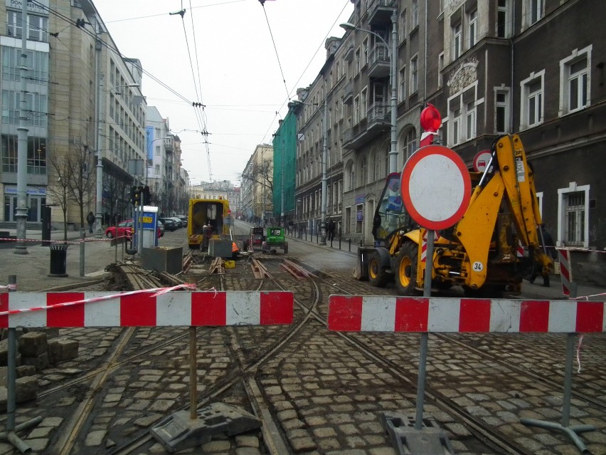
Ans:
[[[181,97],[206,105],[200,119],[144,75],[147,103],[181,138],[193,183],[211,173],[235,183],[255,145],[271,143],[288,96],[296,98],[296,89],[316,78],[326,37],[343,36],[339,23],[353,11],[350,0],[266,0],[265,6],[258,0],[96,0],[95,6],[122,55],[139,58]],[[169,14],[181,9],[183,19]],[[204,128],[208,154],[196,132]]]

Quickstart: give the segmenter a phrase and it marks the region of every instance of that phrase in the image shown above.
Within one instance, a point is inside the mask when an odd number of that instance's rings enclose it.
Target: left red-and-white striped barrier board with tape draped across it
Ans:
[[[0,293],[0,328],[290,324],[292,292]]]

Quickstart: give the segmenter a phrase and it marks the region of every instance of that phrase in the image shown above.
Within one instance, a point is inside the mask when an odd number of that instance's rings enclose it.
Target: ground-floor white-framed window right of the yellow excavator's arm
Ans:
[[[558,244],[589,247],[589,185],[558,189]]]

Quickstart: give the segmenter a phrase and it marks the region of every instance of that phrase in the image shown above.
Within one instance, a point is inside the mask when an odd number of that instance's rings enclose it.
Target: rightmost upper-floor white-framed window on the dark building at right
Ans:
[[[560,115],[587,108],[590,93],[592,46],[560,61]]]

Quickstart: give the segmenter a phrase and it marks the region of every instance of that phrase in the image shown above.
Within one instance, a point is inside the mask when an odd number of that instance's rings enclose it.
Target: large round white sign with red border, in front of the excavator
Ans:
[[[467,210],[472,182],[463,159],[442,145],[428,145],[404,164],[402,200],[412,218],[427,229],[453,226]]]

